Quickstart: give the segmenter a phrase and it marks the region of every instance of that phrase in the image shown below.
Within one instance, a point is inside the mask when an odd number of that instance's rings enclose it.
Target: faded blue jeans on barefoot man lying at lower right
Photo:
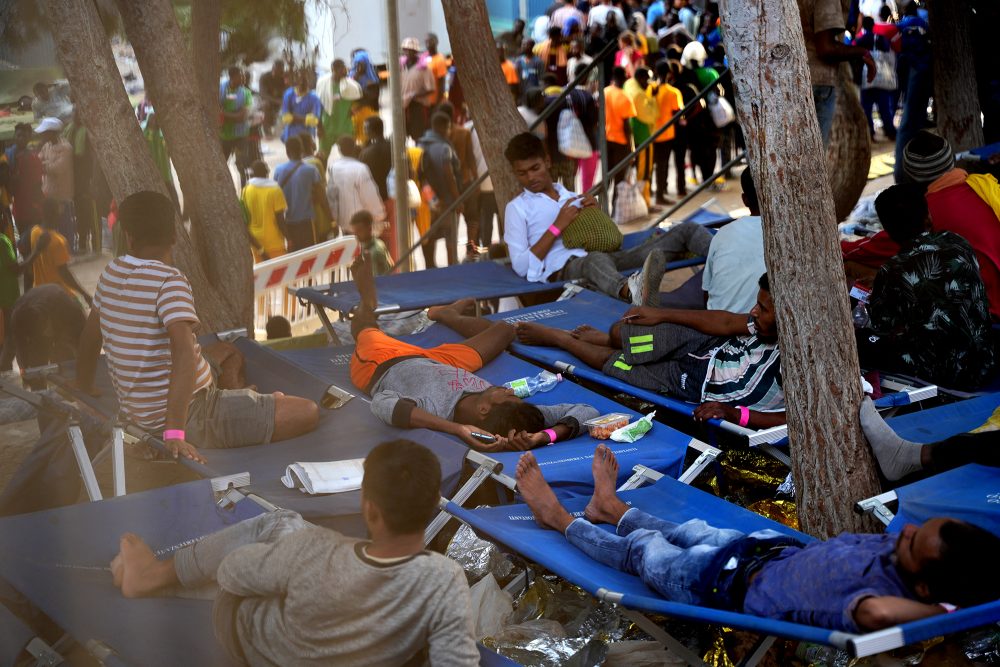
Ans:
[[[681,524],[631,508],[618,522],[616,534],[585,519],[566,528],[570,544],[599,563],[638,576],[642,583],[671,602],[704,605],[711,595],[724,597],[739,561],[719,563],[723,550],[747,538],[781,538],[773,530],[747,535],[732,528],[715,528],[701,519]],[[738,550],[737,550],[738,551]],[[713,590],[715,589],[715,590]]]

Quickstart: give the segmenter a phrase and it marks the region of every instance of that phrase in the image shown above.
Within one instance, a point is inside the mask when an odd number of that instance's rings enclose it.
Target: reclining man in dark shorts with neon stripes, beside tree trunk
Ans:
[[[609,333],[518,322],[526,345],[559,347],[604,374],[642,389],[701,403],[695,419],[751,428],[785,423],[774,302],[765,273],[749,314],[630,308]]]

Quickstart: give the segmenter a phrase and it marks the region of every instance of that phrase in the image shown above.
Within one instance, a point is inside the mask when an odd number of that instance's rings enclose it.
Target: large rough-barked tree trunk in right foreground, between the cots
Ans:
[[[764,224],[799,521],[819,537],[870,530],[879,492],[861,432],[858,354],[833,197],[795,0],[724,0],[725,46]],[[808,101],[808,102],[807,102]]]

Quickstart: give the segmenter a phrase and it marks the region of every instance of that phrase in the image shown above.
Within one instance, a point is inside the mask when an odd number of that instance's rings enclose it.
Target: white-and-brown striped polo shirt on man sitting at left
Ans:
[[[162,428],[171,369],[167,327],[174,322],[198,323],[190,283],[173,266],[125,255],[112,260],[101,274],[94,308],[123,412],[144,428]],[[212,373],[198,343],[194,345],[197,392],[212,384]]]

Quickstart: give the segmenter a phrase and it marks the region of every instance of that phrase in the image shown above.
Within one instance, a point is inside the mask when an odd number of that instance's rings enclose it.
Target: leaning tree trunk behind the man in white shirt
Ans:
[[[507,202],[522,190],[503,152],[511,137],[527,132],[528,125],[518,113],[500,69],[486,3],[483,0],[442,0],[442,4],[455,67],[483,146],[503,219]]]

